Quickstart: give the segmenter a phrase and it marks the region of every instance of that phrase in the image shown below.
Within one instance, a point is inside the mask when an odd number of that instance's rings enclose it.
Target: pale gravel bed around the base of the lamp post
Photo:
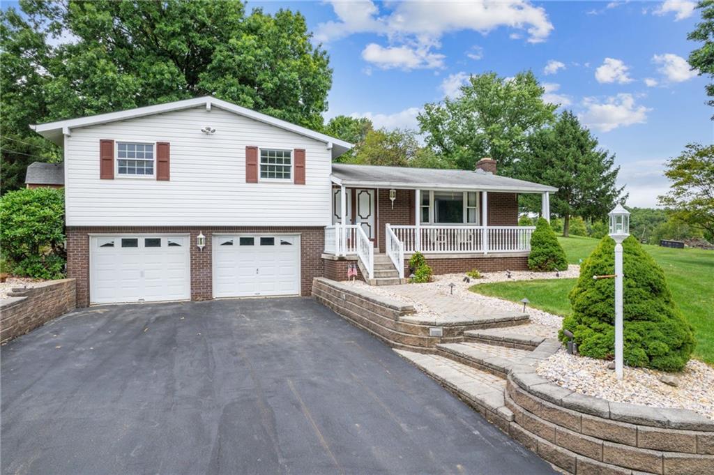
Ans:
[[[610,361],[573,356],[563,349],[541,361],[536,372],[558,386],[608,401],[651,407],[690,409],[714,419],[714,368],[691,359],[679,373],[625,367],[623,379],[608,369]],[[674,376],[677,386],[660,381]]]

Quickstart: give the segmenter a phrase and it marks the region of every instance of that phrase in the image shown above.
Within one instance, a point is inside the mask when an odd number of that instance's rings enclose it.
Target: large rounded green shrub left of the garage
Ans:
[[[0,241],[14,274],[39,279],[64,276],[64,190],[36,188],[4,194]]]

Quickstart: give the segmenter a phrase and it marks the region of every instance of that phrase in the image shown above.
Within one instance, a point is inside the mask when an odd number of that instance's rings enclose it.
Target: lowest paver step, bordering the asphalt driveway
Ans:
[[[501,429],[507,430],[508,423],[513,421],[513,412],[506,407],[504,398],[506,381],[498,376],[435,354],[398,349],[394,351],[436,379]]]

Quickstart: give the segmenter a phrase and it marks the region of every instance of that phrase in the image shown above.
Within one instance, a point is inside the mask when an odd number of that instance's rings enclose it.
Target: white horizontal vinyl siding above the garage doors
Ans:
[[[213,135],[201,132],[204,126]],[[171,180],[99,179],[99,140],[171,143]],[[306,184],[246,183],[246,146],[306,150]],[[115,164],[116,166],[116,164]],[[331,151],[321,141],[213,107],[72,129],[68,226],[328,226]]]

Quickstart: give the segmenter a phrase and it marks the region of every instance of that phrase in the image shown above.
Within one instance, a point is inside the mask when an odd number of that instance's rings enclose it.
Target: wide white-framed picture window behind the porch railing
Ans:
[[[420,222],[476,224],[481,221],[477,191],[421,190]]]

